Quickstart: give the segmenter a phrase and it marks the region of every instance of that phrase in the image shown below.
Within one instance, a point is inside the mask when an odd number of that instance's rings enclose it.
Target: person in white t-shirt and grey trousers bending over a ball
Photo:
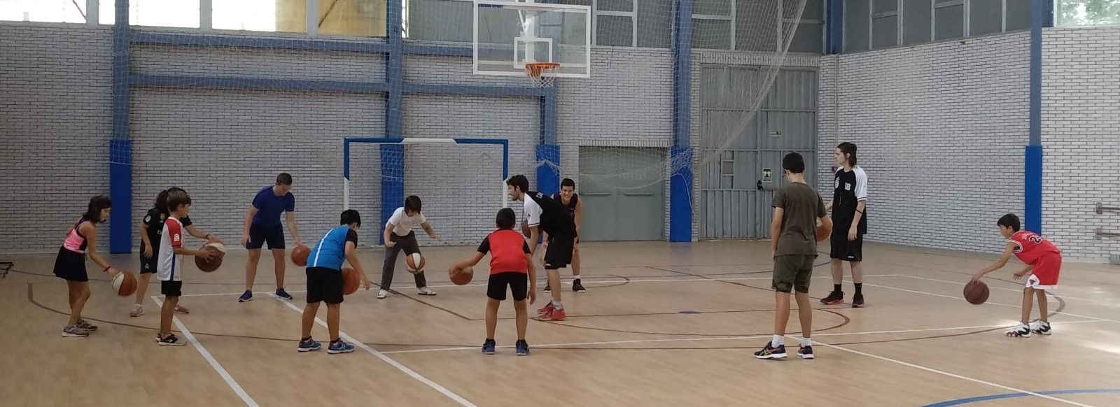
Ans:
[[[420,214],[420,197],[414,195],[404,199],[404,206],[396,208],[393,216],[385,223],[385,266],[381,268],[381,291],[377,299],[389,296],[390,285],[393,284],[393,269],[396,266],[396,255],[404,249],[405,256],[420,253],[420,245],[417,244],[417,235],[412,227],[420,225],[423,231],[433,239],[439,236],[431,230],[428,219]],[[428,281],[423,276],[423,269],[417,271],[412,275],[417,281],[417,293],[420,295],[436,295],[436,292],[428,288]]]

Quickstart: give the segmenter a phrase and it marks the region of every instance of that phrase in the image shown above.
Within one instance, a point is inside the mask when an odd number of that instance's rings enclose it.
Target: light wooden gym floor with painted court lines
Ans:
[[[244,252],[215,273],[186,268],[177,331],[159,347],[159,285],[140,318],[131,299],[91,276],[90,338],[63,338],[66,285],[54,255],[15,262],[0,280],[0,397],[6,406],[1117,406],[1120,405],[1120,267],[1066,263],[1051,297],[1054,334],[1004,337],[1019,315],[1018,264],[990,274],[991,297],[961,297],[969,275],[993,259],[951,252],[865,247],[867,307],[823,306],[822,255],[810,291],[818,358],[756,360],[769,340],[774,295],[768,242],[584,244],[585,294],[563,292],[568,320],[530,321],[532,354],[513,354],[513,306],[503,303],[498,353],[485,337],[484,259],[467,286],[446,268],[473,247],[424,248],[429,285],[416,294],[398,265],[394,290],[346,297],[342,330],[354,353],[298,353],[304,273],[288,265],[295,301],[271,296],[263,256],[252,302]],[[823,247],[828,247],[824,245]],[[371,281],[382,250],[361,249]],[[403,258],[403,257],[402,257]],[[138,269],[136,255],[112,256]],[[1012,262],[1014,263],[1014,262]],[[569,271],[563,271],[566,277]],[[846,277],[848,274],[846,272]],[[570,281],[570,280],[569,280]],[[541,283],[541,288],[543,283]],[[539,288],[540,290],[540,288]],[[851,300],[850,282],[844,291]],[[531,306],[544,304],[545,296]],[[794,305],[796,306],[796,305]],[[325,320],[325,309],[320,319]],[[796,312],[787,343],[800,332]],[[189,331],[189,333],[187,332]],[[327,339],[316,326],[316,339]]]

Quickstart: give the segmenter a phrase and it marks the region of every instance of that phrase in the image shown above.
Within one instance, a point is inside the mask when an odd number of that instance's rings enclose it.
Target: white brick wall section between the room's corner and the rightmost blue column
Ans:
[[[1026,32],[822,58],[819,169],[859,146],[868,240],[1002,247],[996,220],[1023,214],[1028,58]]]

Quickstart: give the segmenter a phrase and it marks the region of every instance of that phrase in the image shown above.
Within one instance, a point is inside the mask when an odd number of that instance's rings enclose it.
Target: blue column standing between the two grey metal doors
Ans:
[[[669,242],[692,242],[692,0],[673,19],[673,148],[670,150]]]

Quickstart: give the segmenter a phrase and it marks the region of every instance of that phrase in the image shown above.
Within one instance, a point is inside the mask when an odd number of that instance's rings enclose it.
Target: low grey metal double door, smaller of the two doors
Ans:
[[[665,149],[580,146],[580,240],[661,240]]]

